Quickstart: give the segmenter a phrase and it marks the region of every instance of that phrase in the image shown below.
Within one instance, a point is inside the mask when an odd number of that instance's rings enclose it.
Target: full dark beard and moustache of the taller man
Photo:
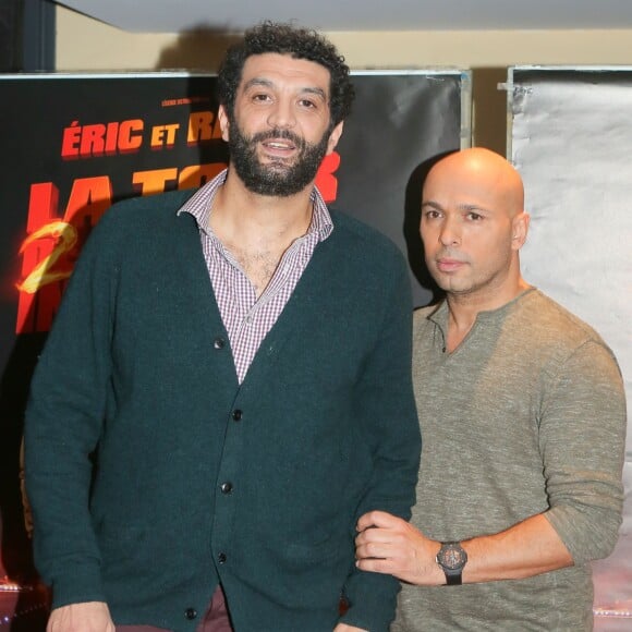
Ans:
[[[257,158],[256,147],[258,143],[270,138],[290,141],[299,150],[296,158],[292,162],[278,159],[263,165]],[[329,132],[318,143],[312,144],[289,130],[270,130],[248,137],[233,119],[228,142],[230,162],[252,193],[288,197],[303,191],[314,181],[327,154],[328,141]]]

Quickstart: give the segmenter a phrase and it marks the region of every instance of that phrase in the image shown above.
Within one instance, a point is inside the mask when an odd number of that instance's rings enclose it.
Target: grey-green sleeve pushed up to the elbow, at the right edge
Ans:
[[[559,367],[543,401],[545,513],[575,564],[613,549],[623,506],[625,396],[610,350],[588,340]]]

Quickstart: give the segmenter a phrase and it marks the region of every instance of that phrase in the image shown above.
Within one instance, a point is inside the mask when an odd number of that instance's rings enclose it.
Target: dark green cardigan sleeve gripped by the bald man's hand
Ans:
[[[374,471],[356,518],[381,510],[409,520],[415,502],[421,433],[411,377],[412,301],[405,262],[394,262],[385,281],[380,333],[357,389]],[[345,585],[350,607],[341,621],[370,632],[388,630],[399,590],[391,575],[354,569]]]

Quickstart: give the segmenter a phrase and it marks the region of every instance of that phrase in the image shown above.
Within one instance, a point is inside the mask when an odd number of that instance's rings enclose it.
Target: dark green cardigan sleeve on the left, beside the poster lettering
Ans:
[[[35,561],[53,607],[105,601],[88,510],[93,453],[110,373],[113,266],[109,214],[74,267],[31,385],[25,477]]]

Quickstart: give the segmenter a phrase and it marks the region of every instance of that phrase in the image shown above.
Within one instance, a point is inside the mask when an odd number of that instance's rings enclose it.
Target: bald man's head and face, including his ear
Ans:
[[[426,265],[448,293],[493,293],[520,275],[516,253],[528,219],[520,179],[502,167],[454,155],[426,179],[421,222]]]

